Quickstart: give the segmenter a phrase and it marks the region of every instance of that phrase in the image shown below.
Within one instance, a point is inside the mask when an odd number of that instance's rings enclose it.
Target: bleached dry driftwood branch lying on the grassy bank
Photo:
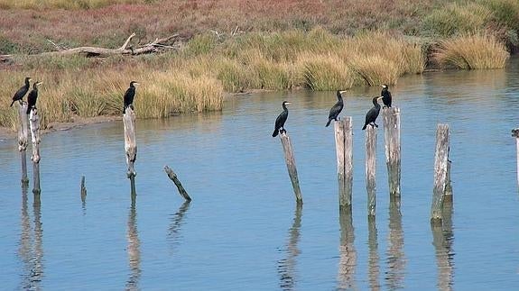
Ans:
[[[177,41],[181,39],[180,34],[173,34],[171,36],[155,39],[150,43],[146,43],[136,49],[129,47],[128,43],[134,38],[135,33],[132,33],[125,41],[125,43],[118,49],[107,49],[107,48],[99,48],[99,47],[79,47],[68,50],[57,50],[57,51],[49,51],[43,52],[42,56],[60,56],[60,55],[74,55],[74,54],[83,54],[87,57],[97,57],[97,56],[110,56],[110,55],[139,55],[144,53],[152,53],[157,52],[163,49],[175,49],[176,47],[171,44],[168,45],[170,41]],[[59,46],[55,45],[56,48],[60,49]]]

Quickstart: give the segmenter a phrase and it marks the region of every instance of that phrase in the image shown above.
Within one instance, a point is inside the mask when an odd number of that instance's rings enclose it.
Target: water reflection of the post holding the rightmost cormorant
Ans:
[[[402,214],[400,199],[390,196],[389,244],[387,249],[387,273],[385,281],[389,290],[403,288],[405,255],[403,253]]]

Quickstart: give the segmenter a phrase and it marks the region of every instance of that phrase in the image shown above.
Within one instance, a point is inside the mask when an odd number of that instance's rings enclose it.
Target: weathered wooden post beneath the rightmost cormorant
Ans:
[[[389,194],[400,196],[400,108],[391,107],[382,110],[384,116],[385,164]]]

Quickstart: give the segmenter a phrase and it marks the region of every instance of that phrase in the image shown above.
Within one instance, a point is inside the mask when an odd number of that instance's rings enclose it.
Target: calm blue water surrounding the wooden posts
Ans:
[[[335,141],[324,127],[334,92],[237,96],[223,113],[137,121],[134,204],[120,122],[42,137],[40,203],[32,181],[28,193],[20,186],[16,141],[0,141],[1,289],[518,289],[518,67],[428,73],[391,88],[402,111],[402,205],[389,203],[381,126],[371,223],[360,128],[379,88],[345,98],[355,127],[351,216],[339,215]],[[283,100],[292,101],[301,208],[271,137]],[[443,232],[429,222],[437,123],[450,126],[454,193]]]

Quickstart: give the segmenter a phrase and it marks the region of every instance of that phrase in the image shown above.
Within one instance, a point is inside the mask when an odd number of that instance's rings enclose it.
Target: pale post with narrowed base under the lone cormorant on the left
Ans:
[[[123,124],[125,127],[126,164],[128,165],[126,175],[130,179],[132,188],[134,189],[134,178],[135,175],[137,175],[134,169],[135,159],[137,159],[137,142],[135,139],[135,114],[130,106],[126,108],[125,114],[123,114]]]

